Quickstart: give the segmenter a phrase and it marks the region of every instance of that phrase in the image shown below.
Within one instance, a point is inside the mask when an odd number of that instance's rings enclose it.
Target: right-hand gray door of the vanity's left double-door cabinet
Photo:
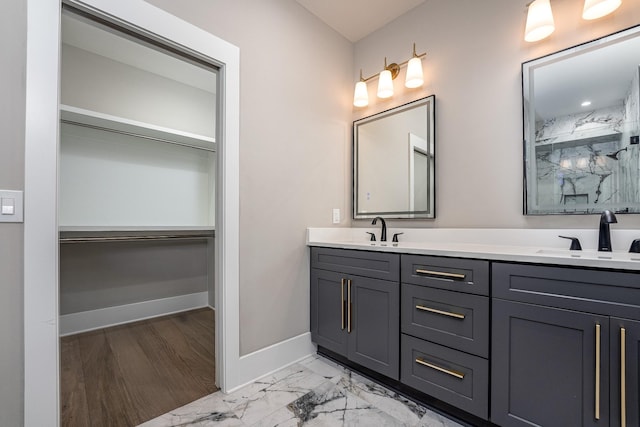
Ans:
[[[349,359],[395,380],[400,376],[400,284],[350,277]]]

